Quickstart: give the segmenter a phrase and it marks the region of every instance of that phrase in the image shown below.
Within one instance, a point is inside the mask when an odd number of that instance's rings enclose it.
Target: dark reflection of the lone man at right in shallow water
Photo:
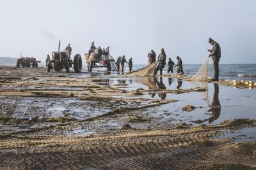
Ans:
[[[209,118],[209,124],[211,124],[214,120],[217,120],[220,117],[221,112],[221,104],[219,100],[219,85],[218,83],[214,83],[214,94],[211,109],[208,111],[212,111],[212,116]]]

